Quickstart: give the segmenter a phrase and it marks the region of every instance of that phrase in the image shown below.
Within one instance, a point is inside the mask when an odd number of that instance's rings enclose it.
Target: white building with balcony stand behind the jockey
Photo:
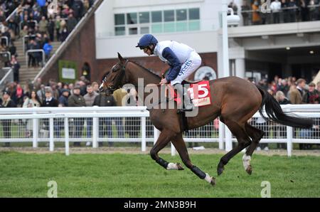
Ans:
[[[212,68],[219,77],[222,1],[104,1],[95,11],[97,60],[115,58],[120,52],[148,63],[152,59],[134,46],[142,34],[152,33],[159,41],[175,40],[195,48],[204,58],[206,71]],[[235,4],[240,14],[242,0]],[[261,16],[272,18],[268,13]],[[320,70],[320,21],[241,25],[242,21],[240,26],[228,28],[230,75],[255,80],[273,75],[311,79]]]

